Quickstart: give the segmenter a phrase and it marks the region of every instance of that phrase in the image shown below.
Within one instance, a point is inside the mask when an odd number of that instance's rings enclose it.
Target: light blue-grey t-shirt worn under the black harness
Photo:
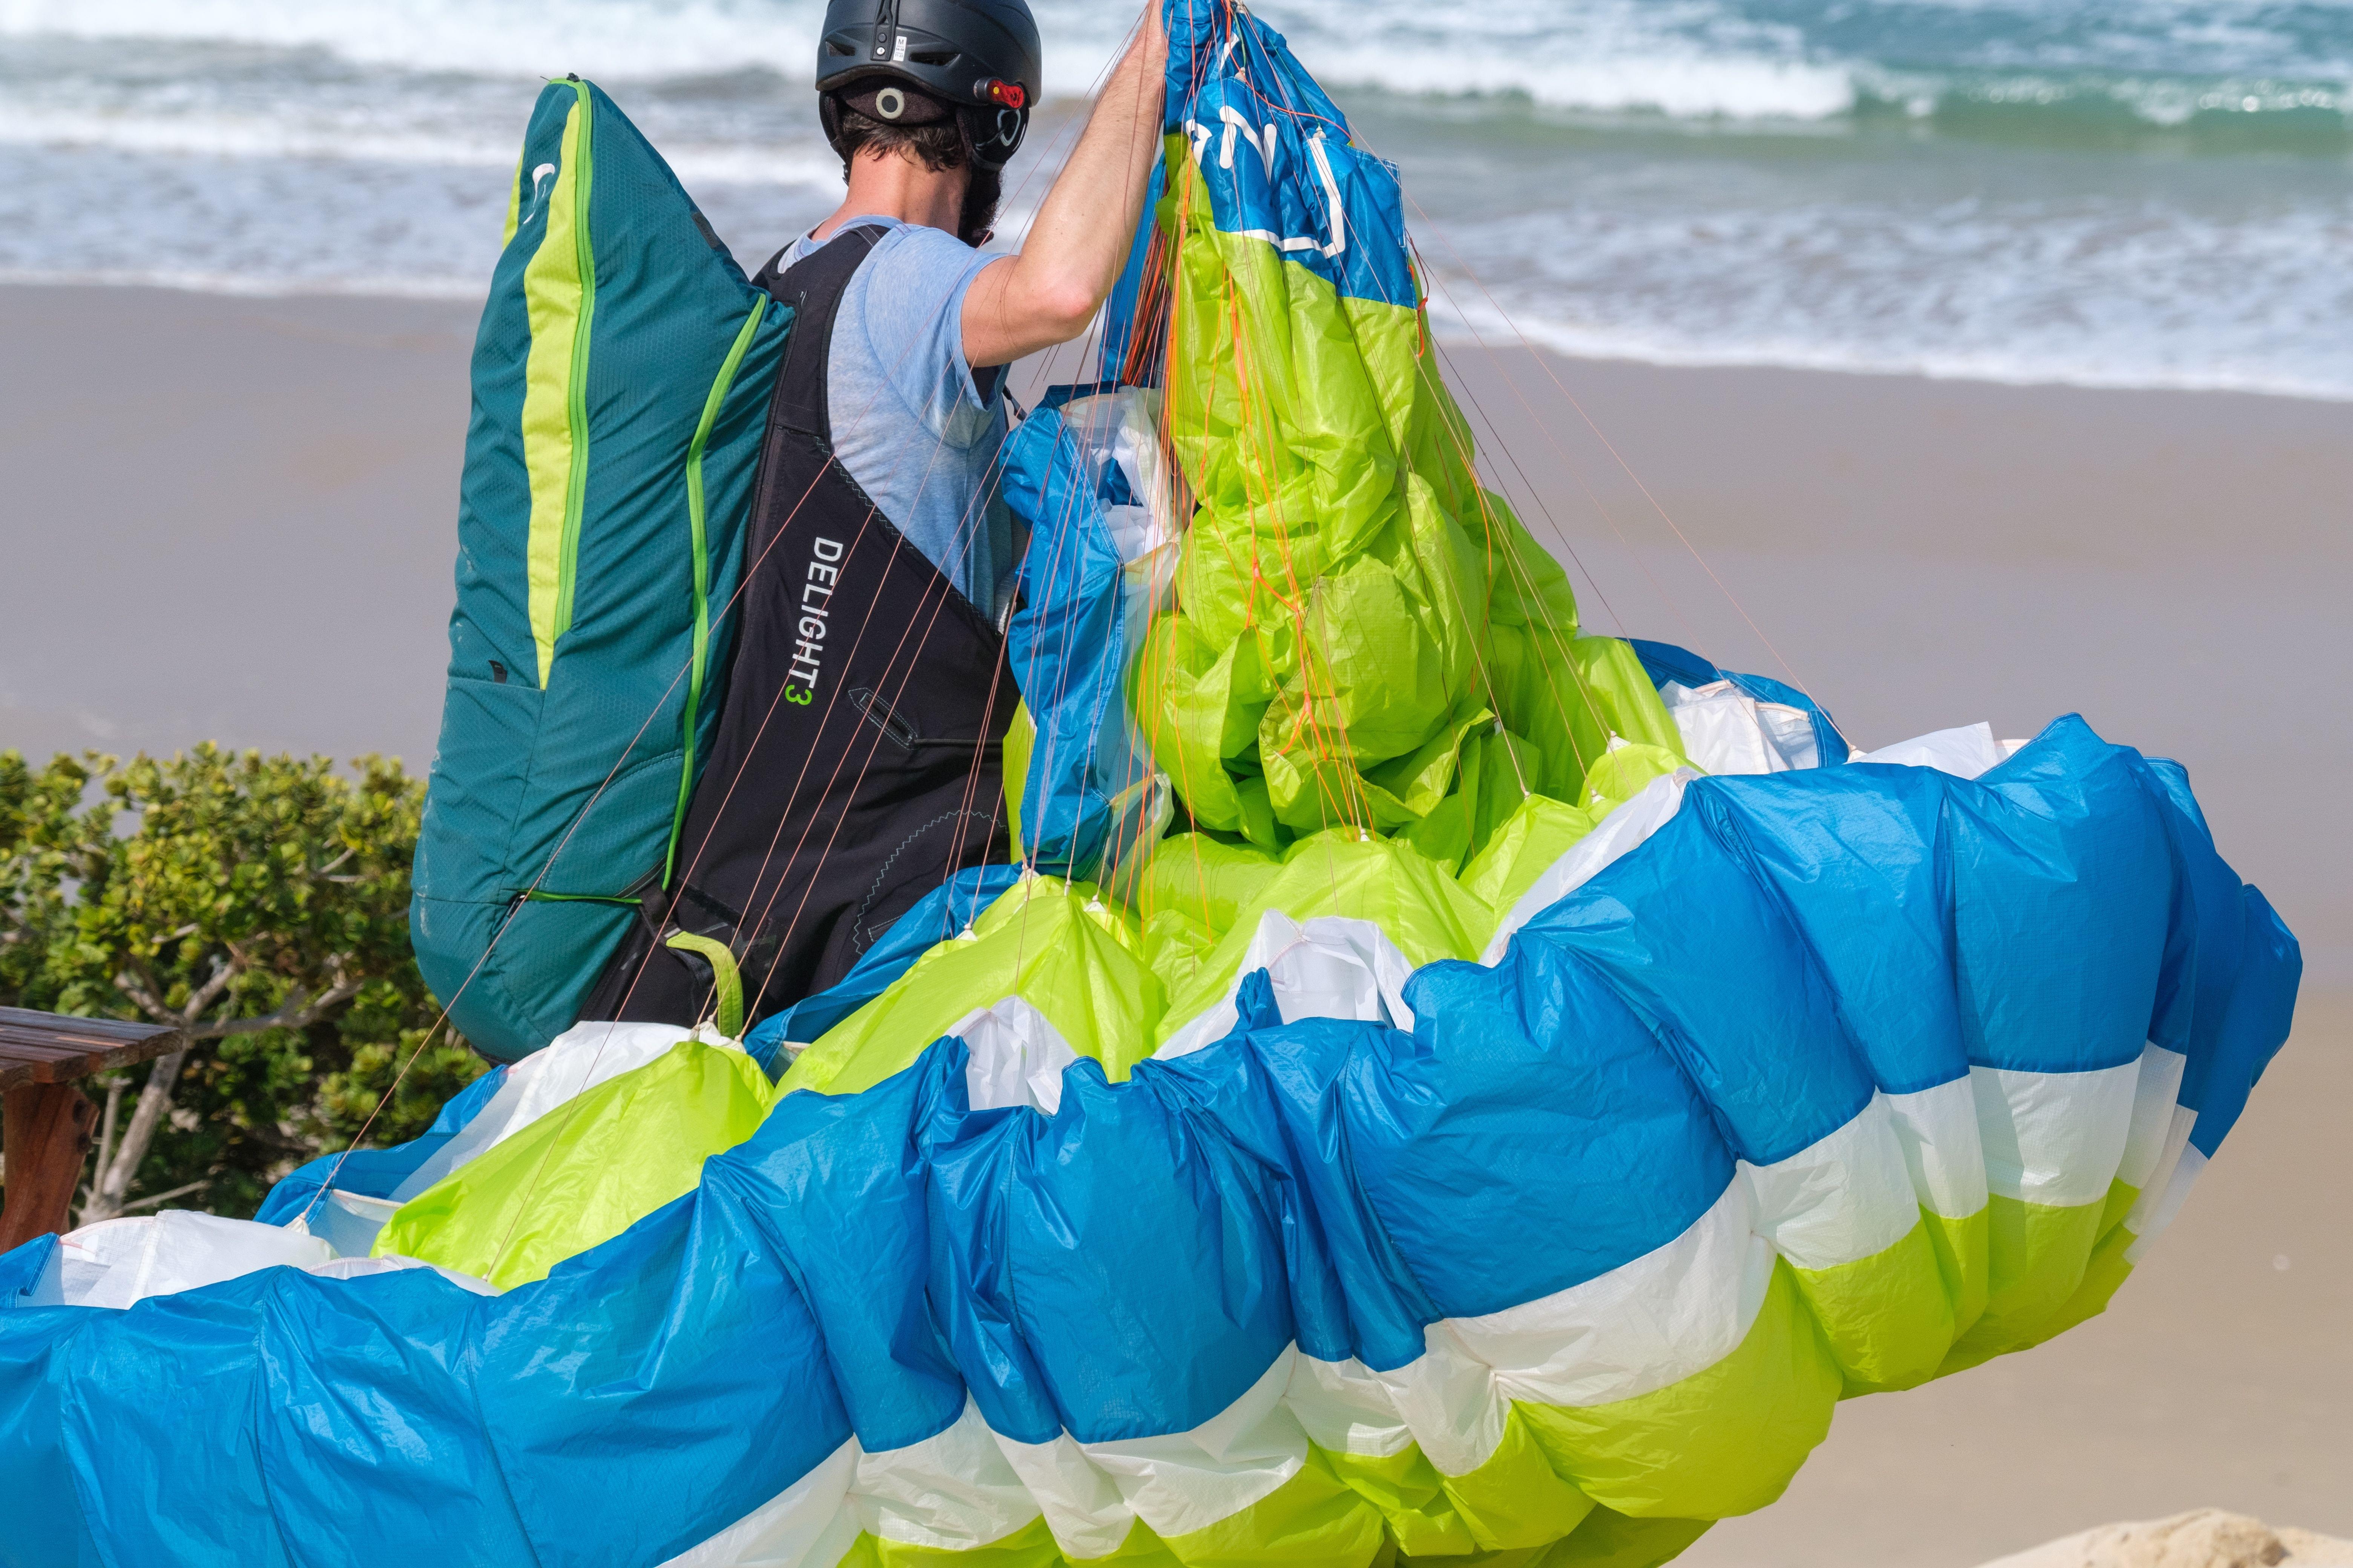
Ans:
[[[984,395],[965,362],[965,292],[995,256],[899,219],[852,219],[835,235],[861,226],[889,233],[849,277],[833,320],[833,451],[892,527],[995,621],[1014,571],[995,470],[1005,376],[988,371]],[[821,247],[802,235],[779,270]]]

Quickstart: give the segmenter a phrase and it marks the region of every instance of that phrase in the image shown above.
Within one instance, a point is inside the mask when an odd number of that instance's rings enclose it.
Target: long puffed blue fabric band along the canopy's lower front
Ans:
[[[1195,1432],[1287,1359],[1412,1375],[1445,1326],[1642,1267],[1889,1095],[2160,1046],[2212,1154],[2297,969],[2179,769],[2080,719],[1974,783],[1699,780],[1501,964],[1421,969],[1409,1032],[1282,1023],[1261,973],[1224,1041],[1125,1084],[1078,1063],[1049,1117],[974,1110],[958,1039],[788,1095],[496,1298],[266,1269],[0,1312],[0,1474],[54,1500],[0,1516],[0,1563],[656,1563],[967,1406],[1016,1446]]]

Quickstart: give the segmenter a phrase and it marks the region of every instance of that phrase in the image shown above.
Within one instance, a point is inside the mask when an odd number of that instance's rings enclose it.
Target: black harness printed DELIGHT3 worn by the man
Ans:
[[[887,230],[753,282],[793,306],[746,531],[734,665],[673,891],[654,889],[584,1018],[696,1023],[718,938],[746,1020],[826,990],[953,872],[1009,856],[1005,637],[833,454],[826,367],[852,275]],[[920,454],[908,454],[920,461]],[[974,503],[972,527],[981,515]]]

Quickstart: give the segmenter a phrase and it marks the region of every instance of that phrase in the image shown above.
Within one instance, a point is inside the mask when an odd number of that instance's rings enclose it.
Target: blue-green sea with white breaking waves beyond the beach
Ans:
[[[482,287],[541,75],[767,254],[814,0],[0,0],[0,280]],[[1047,94],[1132,21],[1040,0]],[[2353,0],[1266,0],[1454,331],[2353,397]],[[1035,200],[1052,136],[1014,183]],[[1019,207],[1009,214],[1019,226]]]

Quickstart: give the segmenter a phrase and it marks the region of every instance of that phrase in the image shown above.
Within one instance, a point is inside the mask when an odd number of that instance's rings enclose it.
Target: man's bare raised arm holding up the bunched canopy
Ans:
[[[1167,56],[1160,0],[1151,0],[1021,254],[991,263],[965,294],[965,360],[974,369],[1068,343],[1104,308],[1160,155]]]

